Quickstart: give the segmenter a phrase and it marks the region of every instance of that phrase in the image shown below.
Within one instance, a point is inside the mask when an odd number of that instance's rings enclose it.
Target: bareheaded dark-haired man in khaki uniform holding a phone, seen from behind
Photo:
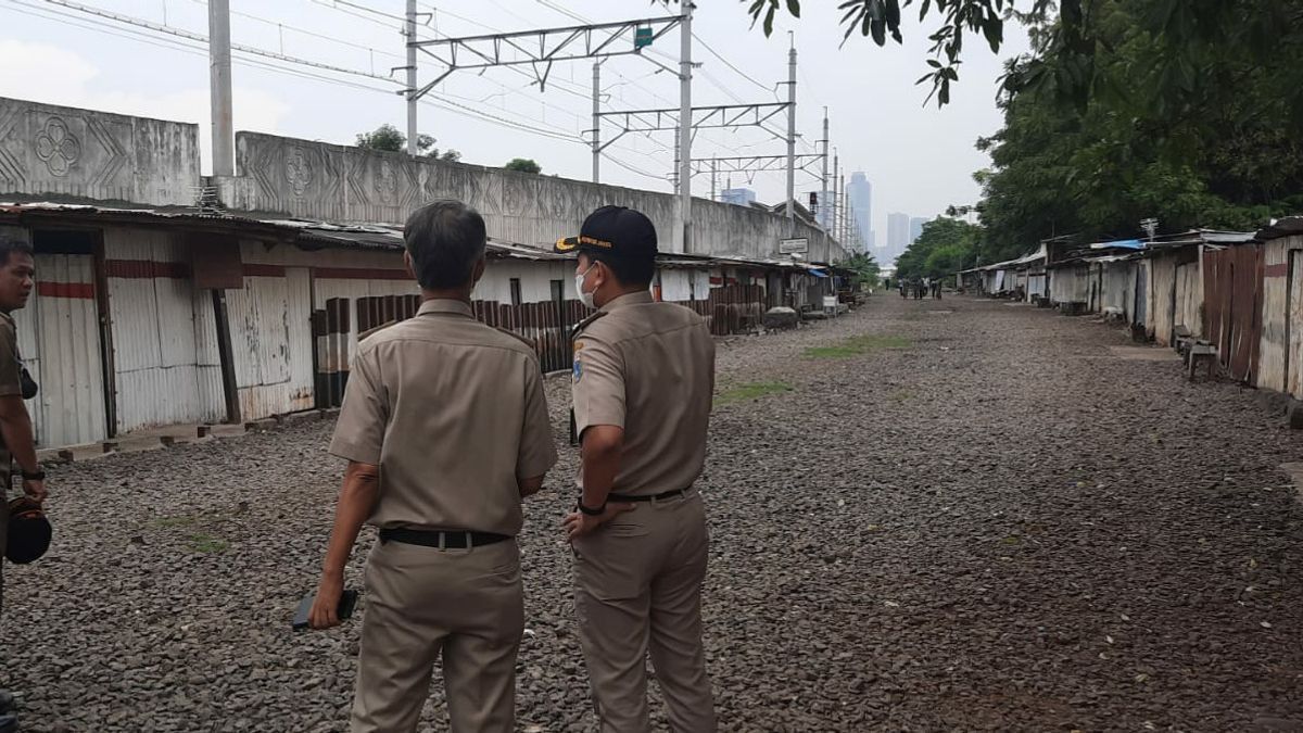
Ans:
[[[556,463],[542,372],[524,339],[476,321],[485,223],[437,201],[403,231],[421,283],[416,317],[365,339],[331,441],[348,459],[311,625],[339,623],[362,523],[366,565],[352,730],[416,730],[442,655],[451,729],[515,729],[524,630],[521,498]]]

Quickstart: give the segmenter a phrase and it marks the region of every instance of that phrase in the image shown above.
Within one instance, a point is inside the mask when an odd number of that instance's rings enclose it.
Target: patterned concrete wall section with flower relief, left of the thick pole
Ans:
[[[0,194],[190,205],[199,128],[0,98]]]

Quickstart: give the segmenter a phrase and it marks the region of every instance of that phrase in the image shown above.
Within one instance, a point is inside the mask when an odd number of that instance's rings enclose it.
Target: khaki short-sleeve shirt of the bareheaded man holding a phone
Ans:
[[[516,535],[516,480],[556,463],[538,357],[429,300],[358,346],[330,451],[380,467],[369,524]]]

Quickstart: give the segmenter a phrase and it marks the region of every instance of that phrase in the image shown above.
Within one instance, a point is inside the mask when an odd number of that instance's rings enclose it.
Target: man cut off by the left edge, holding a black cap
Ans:
[[[9,528],[9,485],[13,464],[22,471],[22,490],[40,503],[46,500],[46,473],[36,462],[36,441],[31,416],[23,399],[36,395],[36,385],[23,380],[22,357],[18,355],[18,333],[13,313],[27,305],[35,287],[31,245],[0,235],[0,553],[4,552]],[[4,558],[0,558],[3,569]],[[4,575],[0,573],[0,605]],[[18,729],[13,715],[13,695],[0,691],[0,733]]]

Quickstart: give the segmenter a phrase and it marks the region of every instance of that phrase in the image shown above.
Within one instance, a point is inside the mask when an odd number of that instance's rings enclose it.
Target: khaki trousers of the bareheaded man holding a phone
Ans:
[[[366,563],[353,733],[416,730],[440,655],[451,730],[511,733],[524,626],[515,540],[443,550],[378,541]]]

